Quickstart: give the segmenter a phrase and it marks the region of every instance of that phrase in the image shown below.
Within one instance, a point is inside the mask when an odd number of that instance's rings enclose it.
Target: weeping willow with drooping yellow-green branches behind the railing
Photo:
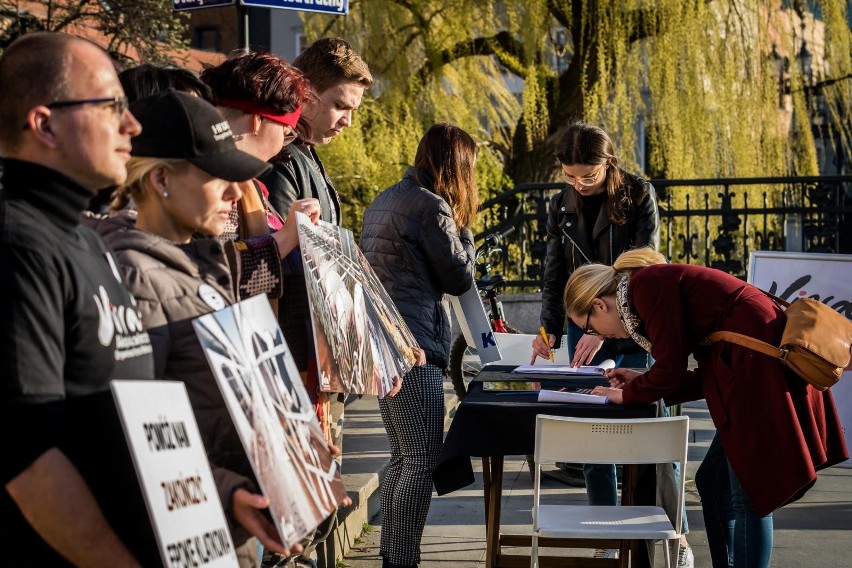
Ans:
[[[439,120],[482,142],[485,191],[554,179],[573,119],[650,176],[814,174],[817,94],[850,157],[848,16],[846,0],[352,0],[347,18],[305,17],[309,39],[347,38],[379,78],[322,152],[356,216]],[[779,77],[770,52],[794,60],[803,39],[814,79],[795,64]]]

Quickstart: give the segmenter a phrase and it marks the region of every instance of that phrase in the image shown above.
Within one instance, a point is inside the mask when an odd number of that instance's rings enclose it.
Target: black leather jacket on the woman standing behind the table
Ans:
[[[547,217],[547,259],[541,293],[541,324],[556,336],[556,347],[565,331],[565,284],[580,266],[591,262],[612,265],[622,252],[639,247],[660,248],[660,214],[654,187],[642,178],[622,170],[624,191],[631,195],[627,221],[612,223],[606,202],[592,230],[592,242],[587,237],[586,219],[577,206],[578,195],[566,186],[550,201]]]

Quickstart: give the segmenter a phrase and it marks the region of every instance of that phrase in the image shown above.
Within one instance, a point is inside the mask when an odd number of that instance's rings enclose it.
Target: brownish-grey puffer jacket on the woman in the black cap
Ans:
[[[255,490],[254,475],[192,327],[193,318],[234,303],[225,247],[216,239],[175,245],[122,217],[86,222],[115,252],[136,297],[154,349],[154,376],[186,385],[234,544],[240,546],[248,533],[233,520],[231,495],[240,487]]]

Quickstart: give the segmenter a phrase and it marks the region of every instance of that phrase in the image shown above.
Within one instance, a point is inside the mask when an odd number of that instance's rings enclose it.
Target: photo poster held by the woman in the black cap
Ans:
[[[193,325],[290,548],[337,509],[346,489],[269,300],[261,294]]]

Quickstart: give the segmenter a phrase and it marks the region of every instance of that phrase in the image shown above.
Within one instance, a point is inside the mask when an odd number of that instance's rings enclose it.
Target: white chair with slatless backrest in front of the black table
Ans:
[[[541,462],[656,464],[681,463],[678,495],[683,495],[689,417],[607,420],[536,417],[535,489],[530,565],[538,567],[538,539],[618,539],[675,541],[681,536],[683,499],[677,499],[675,525],[662,507],[542,505]],[[676,540],[677,539],[677,540]],[[671,568],[669,542],[663,546]],[[675,544],[675,557],[677,545]]]

